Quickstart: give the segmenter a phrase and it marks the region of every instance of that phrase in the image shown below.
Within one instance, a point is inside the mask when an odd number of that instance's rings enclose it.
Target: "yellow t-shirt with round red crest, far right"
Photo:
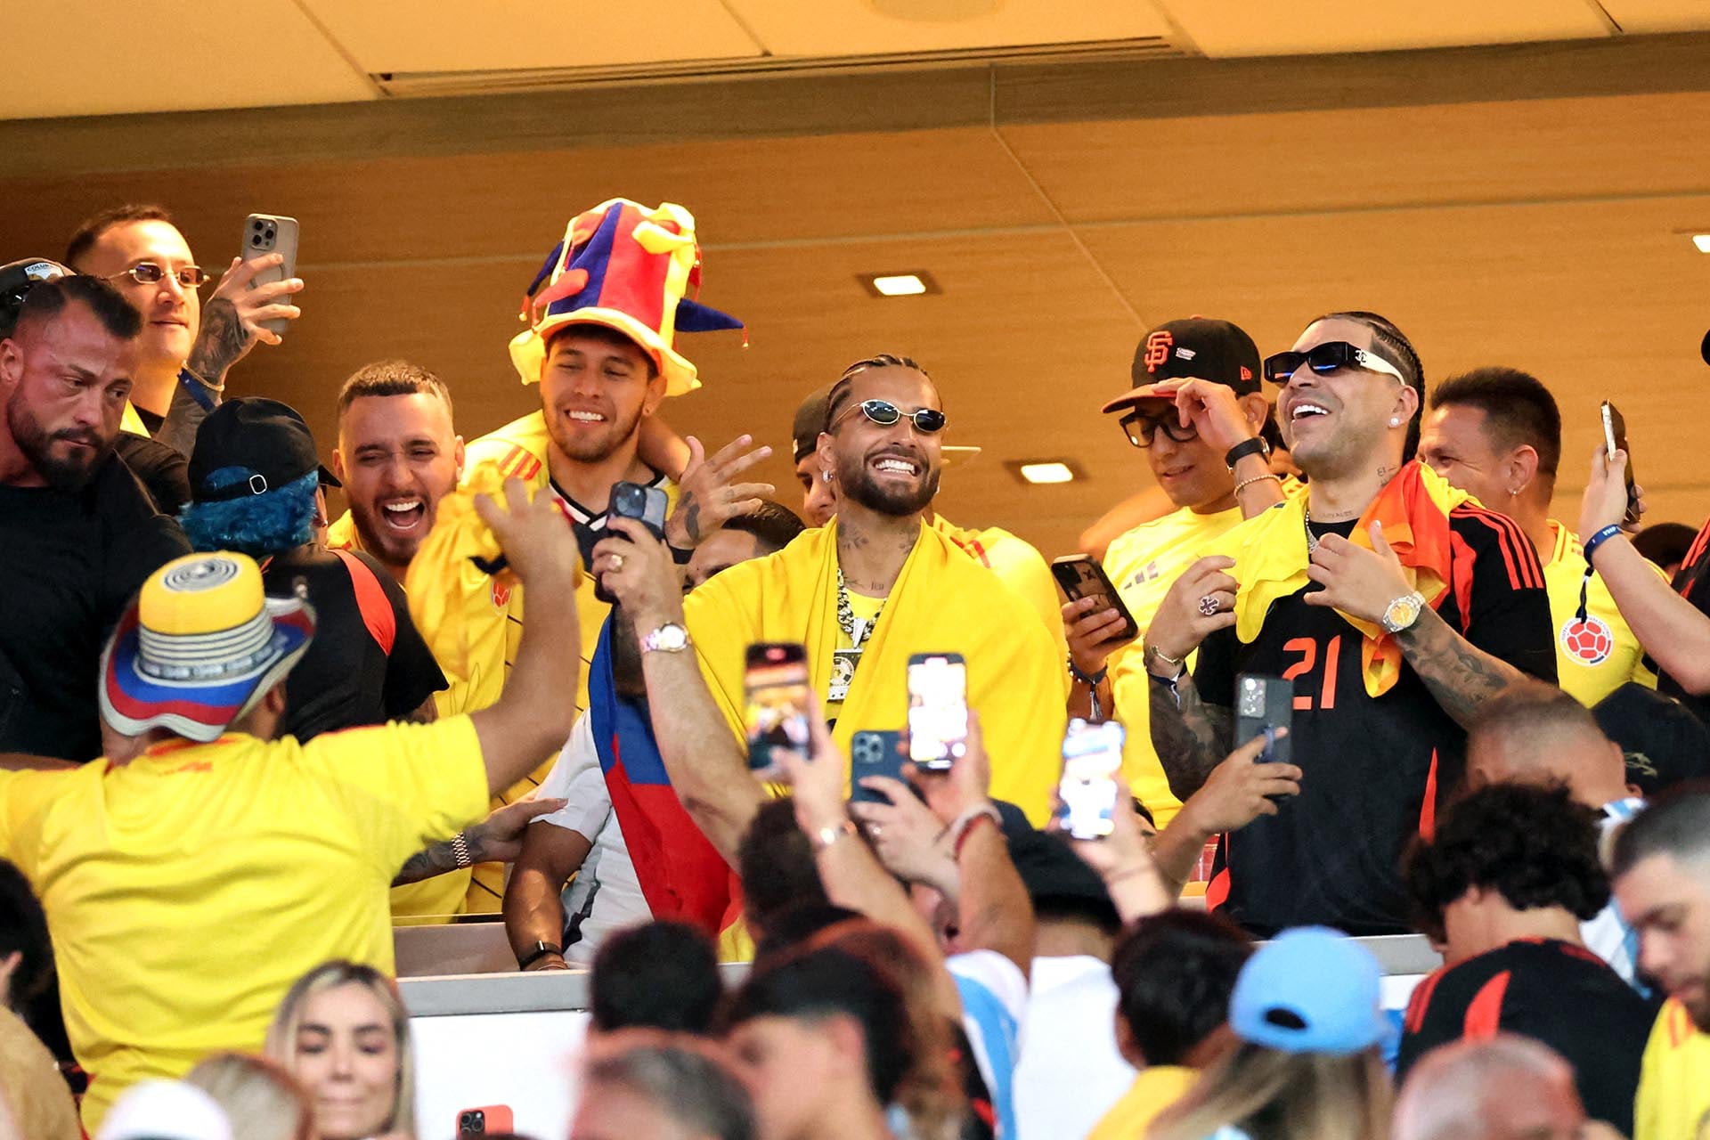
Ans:
[[[1556,520],[1549,520],[1549,528],[1556,535],[1556,545],[1539,554],[1544,557],[1549,619],[1556,627],[1556,684],[1587,708],[1630,680],[1655,689],[1657,675],[1645,668],[1645,648],[1638,644],[1597,574],[1592,574],[1585,588],[1585,626],[1580,626],[1585,550],[1578,535]]]

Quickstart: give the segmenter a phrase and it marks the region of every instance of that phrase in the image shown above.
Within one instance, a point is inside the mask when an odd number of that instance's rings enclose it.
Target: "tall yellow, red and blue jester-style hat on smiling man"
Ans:
[[[544,285],[544,287],[542,287]],[[665,202],[648,209],[612,198],[578,214],[523,296],[528,332],[511,340],[525,385],[540,379],[545,344],[566,325],[604,325],[634,340],[665,378],[665,395],[701,386],[674,347],[677,333],[742,328],[742,321],[686,294],[701,289],[694,215]]]

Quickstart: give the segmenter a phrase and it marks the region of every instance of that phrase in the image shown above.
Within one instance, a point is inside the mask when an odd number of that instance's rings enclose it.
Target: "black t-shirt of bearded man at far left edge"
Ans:
[[[77,491],[0,485],[0,752],[92,761],[106,636],[190,544],[111,456]]]

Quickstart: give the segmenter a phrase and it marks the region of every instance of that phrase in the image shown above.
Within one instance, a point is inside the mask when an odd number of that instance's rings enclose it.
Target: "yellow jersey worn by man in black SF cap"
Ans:
[[[1117,701],[1113,716],[1127,730],[1122,773],[1159,827],[1175,819],[1182,802],[1170,791],[1170,779],[1158,761],[1158,752],[1153,750],[1151,680],[1141,661],[1146,627],[1153,624],[1153,615],[1158,614],[1158,607],[1182,571],[1240,521],[1240,508],[1214,514],[1195,514],[1182,508],[1141,523],[1105,550],[1105,573],[1134,615],[1134,624],[1141,627],[1141,636],[1112,653],[1108,661],[1110,685]],[[1188,667],[1192,668],[1192,661]]]

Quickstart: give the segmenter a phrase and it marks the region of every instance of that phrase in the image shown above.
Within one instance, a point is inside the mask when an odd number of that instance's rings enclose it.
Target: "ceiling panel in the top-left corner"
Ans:
[[[9,3],[5,51],[14,62],[56,62],[48,73],[60,79],[27,82],[26,70],[14,72],[0,91],[0,120],[374,97],[291,0]]]

